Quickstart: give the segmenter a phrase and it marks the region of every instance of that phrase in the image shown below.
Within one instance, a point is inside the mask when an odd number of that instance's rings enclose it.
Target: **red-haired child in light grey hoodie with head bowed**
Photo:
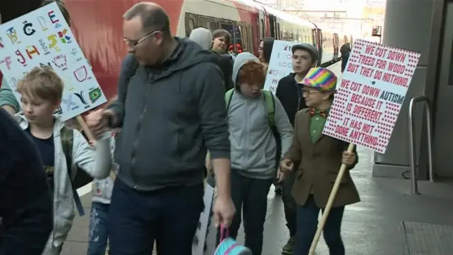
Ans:
[[[249,52],[240,53],[234,61],[233,81],[235,90],[227,119],[231,142],[231,198],[238,213],[234,215],[229,234],[236,238],[242,208],[245,245],[252,254],[260,255],[268,192],[277,171],[277,143],[262,91],[265,81],[263,64]],[[294,130],[282,103],[273,97],[275,128],[281,137],[283,155],[291,145]],[[279,181],[284,177],[280,171],[277,172]]]

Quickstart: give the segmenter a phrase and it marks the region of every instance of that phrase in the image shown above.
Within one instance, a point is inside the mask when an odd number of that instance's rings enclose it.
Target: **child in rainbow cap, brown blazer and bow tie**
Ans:
[[[318,227],[319,210],[326,207],[341,164],[352,169],[357,152],[348,153],[348,143],[322,134],[336,92],[337,77],[321,67],[309,70],[299,85],[306,106],[294,120],[294,138],[280,162],[281,171],[295,171],[292,196],[297,203],[297,233],[294,255],[307,255]],[[297,167],[294,167],[297,166]],[[296,169],[297,168],[297,169]],[[328,215],[323,236],[331,255],[344,255],[340,228],[345,205],[360,201],[347,171]]]

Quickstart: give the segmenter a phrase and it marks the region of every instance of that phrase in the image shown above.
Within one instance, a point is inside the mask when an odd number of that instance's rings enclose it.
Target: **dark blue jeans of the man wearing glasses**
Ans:
[[[201,180],[200,180],[201,181]],[[117,178],[108,215],[111,255],[192,254],[203,183],[137,191]]]

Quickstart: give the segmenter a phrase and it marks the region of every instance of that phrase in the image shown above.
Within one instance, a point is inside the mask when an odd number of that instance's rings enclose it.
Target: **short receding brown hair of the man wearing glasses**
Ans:
[[[151,33],[155,30],[160,30],[165,35],[171,36],[170,20],[164,9],[158,4],[151,2],[141,2],[135,4],[126,11],[123,18],[130,21],[133,18],[139,17],[142,21],[142,29],[146,33]]]

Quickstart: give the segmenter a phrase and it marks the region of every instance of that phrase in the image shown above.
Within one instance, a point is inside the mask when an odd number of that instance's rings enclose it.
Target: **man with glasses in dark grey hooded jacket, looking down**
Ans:
[[[191,254],[203,210],[207,149],[217,177],[214,217],[229,227],[230,143],[222,73],[212,53],[173,38],[166,12],[141,2],[124,15],[129,49],[118,99],[90,113],[95,133],[122,128],[115,162],[120,171],[110,203],[111,254]]]

